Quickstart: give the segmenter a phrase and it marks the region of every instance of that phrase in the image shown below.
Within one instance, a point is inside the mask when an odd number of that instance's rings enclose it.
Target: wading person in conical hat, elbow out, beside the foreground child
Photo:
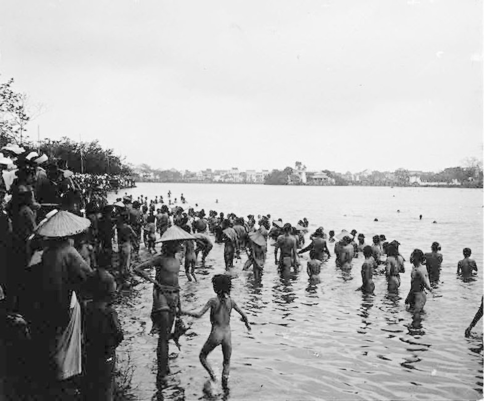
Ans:
[[[162,252],[134,267],[135,274],[153,283],[152,332],[159,335],[156,349],[158,363],[156,382],[162,386],[167,383],[167,376],[170,373],[168,340],[175,317],[180,313],[178,285],[180,260],[176,254],[180,251],[180,243],[186,240],[195,240],[195,237],[178,226],[170,227],[160,239],[163,243]],[[156,269],[154,280],[145,272],[150,267]]]

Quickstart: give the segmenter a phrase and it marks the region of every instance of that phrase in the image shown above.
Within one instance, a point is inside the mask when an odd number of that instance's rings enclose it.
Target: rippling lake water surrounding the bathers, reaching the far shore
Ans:
[[[241,270],[243,257],[230,273],[232,297],[247,313],[252,332],[247,333],[234,312],[230,388],[223,392],[216,387],[211,397],[203,392],[208,375],[198,359],[210,332],[209,314],[185,319],[193,325],[181,339],[181,352],[170,345],[170,352],[178,354],[171,361],[173,383],[156,393],[157,339],[149,335],[152,286],[141,283],[118,306],[125,331],[118,356],[121,364],[129,357],[134,365],[136,399],[482,398],[482,321],[471,338],[464,337],[482,296],[481,190],[139,183],[126,192],[134,197],[142,193],[148,199],[160,194],[166,198],[169,189],[172,198],[184,193],[188,206],[198,203],[207,215],[211,209],[241,216],[269,213],[293,224],[306,217],[310,233],[318,226],[336,233],[356,229],[366,235],[367,242],[373,234],[385,234],[389,241],[401,243],[406,273],[401,275],[398,296],[388,296],[381,275],[374,276],[375,295],[366,296],[356,291],[361,285],[363,256],[354,260],[350,272],[337,269],[333,256],[317,285],[307,280],[307,253],[299,273],[280,277],[274,248],[269,246],[259,283],[251,272]],[[434,220],[437,224],[432,224]],[[408,260],[414,248],[429,252],[433,241],[442,247],[442,272],[419,320],[404,304],[410,287]],[[479,269],[476,280],[467,283],[455,274],[464,247],[472,249]],[[333,255],[333,247],[330,252]],[[198,283],[188,282],[181,272],[185,309],[199,310],[214,296],[210,280],[225,271],[223,245],[214,245],[207,265],[197,270]],[[220,377],[220,348],[209,361]]]

